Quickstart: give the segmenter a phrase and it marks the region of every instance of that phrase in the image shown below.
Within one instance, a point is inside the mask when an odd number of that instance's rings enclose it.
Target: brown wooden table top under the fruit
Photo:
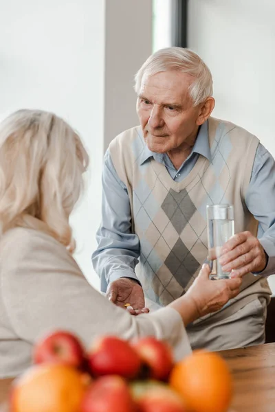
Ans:
[[[232,412],[275,412],[275,343],[219,353],[234,377]],[[0,380],[0,404],[11,382]]]

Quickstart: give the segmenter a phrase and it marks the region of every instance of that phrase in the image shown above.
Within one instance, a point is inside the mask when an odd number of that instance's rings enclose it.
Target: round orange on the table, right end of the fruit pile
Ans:
[[[194,351],[177,363],[170,385],[193,412],[227,412],[232,399],[232,376],[227,363],[214,352]]]

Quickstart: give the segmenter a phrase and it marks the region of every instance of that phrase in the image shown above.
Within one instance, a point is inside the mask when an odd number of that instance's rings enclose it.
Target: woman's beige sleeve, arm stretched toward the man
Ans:
[[[177,358],[190,352],[176,310],[133,317],[90,286],[65,247],[50,236],[24,233],[2,255],[0,296],[19,339],[33,345],[61,328],[78,334],[87,347],[104,334],[127,340],[153,335],[172,345]]]

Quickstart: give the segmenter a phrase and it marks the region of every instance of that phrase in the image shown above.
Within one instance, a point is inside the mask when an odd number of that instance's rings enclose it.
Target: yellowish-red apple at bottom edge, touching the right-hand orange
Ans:
[[[139,412],[188,412],[181,397],[163,382],[133,382],[131,391]]]

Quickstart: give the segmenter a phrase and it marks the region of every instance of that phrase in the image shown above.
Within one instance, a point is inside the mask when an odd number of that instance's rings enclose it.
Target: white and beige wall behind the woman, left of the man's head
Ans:
[[[100,224],[104,148],[135,126],[133,76],[151,54],[151,0],[0,2],[0,119],[18,108],[54,111],[91,157],[87,190],[72,216],[75,258],[89,282]]]

